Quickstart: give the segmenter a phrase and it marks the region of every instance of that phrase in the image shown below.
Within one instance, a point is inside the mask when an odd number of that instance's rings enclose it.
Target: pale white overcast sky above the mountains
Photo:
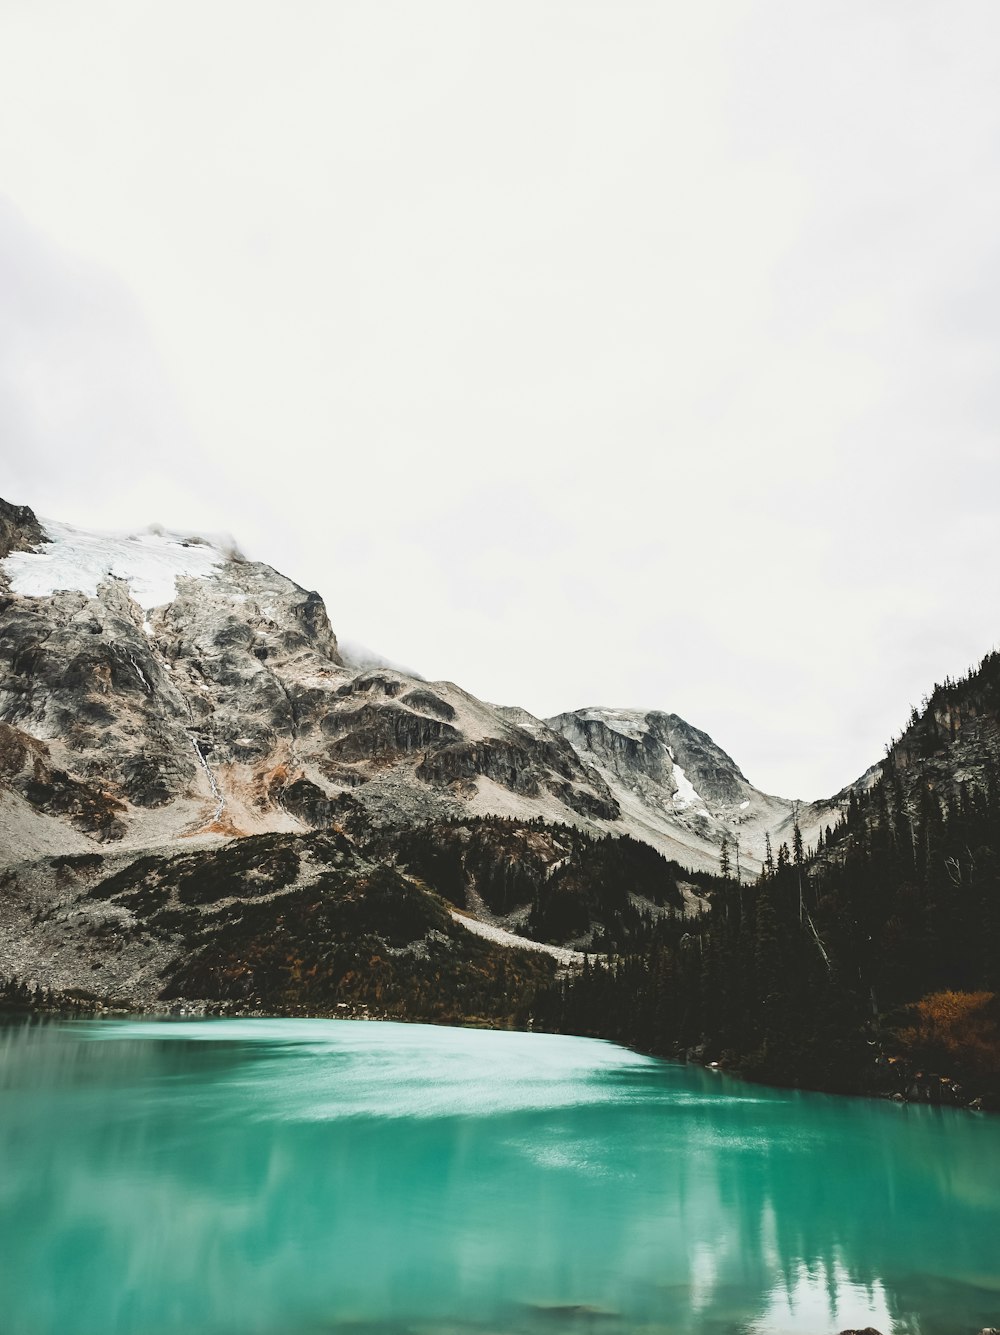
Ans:
[[[0,495],[817,797],[1000,638],[1000,5],[0,0]]]

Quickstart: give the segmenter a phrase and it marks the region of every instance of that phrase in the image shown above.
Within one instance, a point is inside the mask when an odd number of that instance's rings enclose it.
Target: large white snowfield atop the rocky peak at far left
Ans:
[[[1,562],[11,589],[25,598],[48,598],[60,589],[96,598],[97,585],[113,577],[128,581],[132,598],[148,611],[174,602],[179,575],[206,579],[226,561],[218,547],[179,533],[123,537],[49,519],[43,529],[49,542],[37,551],[12,551]]]

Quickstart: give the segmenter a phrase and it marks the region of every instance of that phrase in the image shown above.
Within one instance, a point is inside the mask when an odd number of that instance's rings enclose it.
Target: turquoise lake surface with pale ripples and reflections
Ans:
[[[589,1039],[0,1028],[3,1335],[1000,1324],[1000,1119]]]

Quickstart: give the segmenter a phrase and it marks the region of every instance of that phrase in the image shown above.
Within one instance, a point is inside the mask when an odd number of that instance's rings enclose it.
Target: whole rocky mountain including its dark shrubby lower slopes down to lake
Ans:
[[[0,502],[8,976],[287,1008],[314,1005],[303,971],[338,960],[327,1000],[439,1015],[433,976],[471,951],[493,961],[495,1017],[513,960],[543,981],[574,951],[623,948],[704,906],[724,836],[752,877],[766,834],[790,837],[798,810],[810,837],[845,800],[762,794],[674,714],[545,721],[344,654],[318,593],[230,541]],[[406,941],[390,882],[422,905]],[[382,967],[395,981],[377,985]]]

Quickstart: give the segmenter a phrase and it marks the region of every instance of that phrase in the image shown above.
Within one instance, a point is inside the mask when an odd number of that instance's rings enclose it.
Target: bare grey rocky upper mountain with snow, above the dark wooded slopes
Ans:
[[[725,834],[750,874],[790,829],[792,802],[674,714],[542,721],[346,659],[319,594],[228,542],[4,503],[0,585],[8,861],[322,829],[348,800],[372,828],[541,817],[700,869]]]

